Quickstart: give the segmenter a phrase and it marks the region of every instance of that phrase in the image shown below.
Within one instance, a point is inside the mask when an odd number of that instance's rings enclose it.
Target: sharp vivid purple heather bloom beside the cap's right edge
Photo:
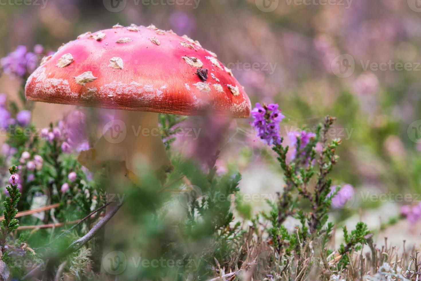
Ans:
[[[267,145],[280,145],[281,136],[279,133],[279,123],[285,116],[278,110],[278,104],[256,103],[256,107],[251,111],[254,121],[251,125],[257,131],[257,136]]]

